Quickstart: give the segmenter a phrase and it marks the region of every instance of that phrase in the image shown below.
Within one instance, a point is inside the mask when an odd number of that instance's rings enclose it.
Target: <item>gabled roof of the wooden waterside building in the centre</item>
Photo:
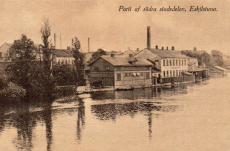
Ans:
[[[122,56],[119,56],[119,57],[111,57],[111,56],[101,56],[99,58],[102,58],[104,59],[105,61],[109,62],[110,64],[112,64],[113,66],[152,66],[152,64],[143,59],[143,58],[133,58],[133,59],[130,59],[129,57],[122,57]],[[96,60],[98,60],[99,58],[97,58]],[[89,66],[91,64],[93,64],[96,60],[94,60],[93,62],[91,62],[89,64]],[[130,63],[133,62],[133,63]]]

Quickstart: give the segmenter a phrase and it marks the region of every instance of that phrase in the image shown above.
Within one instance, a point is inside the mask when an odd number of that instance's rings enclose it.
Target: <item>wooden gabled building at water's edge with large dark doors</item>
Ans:
[[[91,86],[113,86],[123,89],[151,85],[152,64],[142,58],[101,56],[91,62]]]

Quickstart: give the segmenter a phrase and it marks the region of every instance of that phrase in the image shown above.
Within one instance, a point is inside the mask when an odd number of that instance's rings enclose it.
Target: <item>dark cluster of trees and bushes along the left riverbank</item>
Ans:
[[[15,40],[9,50],[11,63],[0,74],[0,98],[48,97],[55,94],[57,83],[64,76],[71,75],[71,84],[84,84],[84,54],[80,52],[80,41],[72,39],[74,67],[53,66],[52,53],[54,48],[50,42],[51,26],[45,19],[40,30],[42,44],[36,46],[30,38],[22,34]],[[71,72],[71,74],[69,74]],[[67,77],[66,79],[69,79]]]

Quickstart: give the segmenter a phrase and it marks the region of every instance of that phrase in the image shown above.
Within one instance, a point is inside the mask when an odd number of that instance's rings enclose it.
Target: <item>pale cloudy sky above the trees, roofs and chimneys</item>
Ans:
[[[12,43],[26,34],[41,43],[40,28],[49,18],[57,48],[78,37],[82,50],[125,51],[146,48],[146,27],[151,26],[152,47],[175,46],[177,50],[220,50],[230,54],[229,0],[0,0],[0,44]],[[131,12],[118,11],[132,7]],[[141,6],[140,12],[134,8]],[[143,12],[144,7],[180,6],[187,12]],[[190,6],[216,7],[216,12],[189,12]]]

